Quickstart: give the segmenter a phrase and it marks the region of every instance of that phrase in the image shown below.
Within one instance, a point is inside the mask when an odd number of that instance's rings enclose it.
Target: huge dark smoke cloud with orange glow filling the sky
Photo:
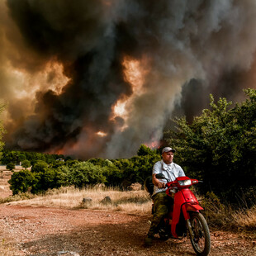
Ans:
[[[10,148],[130,157],[209,93],[255,88],[253,0],[0,1]]]

